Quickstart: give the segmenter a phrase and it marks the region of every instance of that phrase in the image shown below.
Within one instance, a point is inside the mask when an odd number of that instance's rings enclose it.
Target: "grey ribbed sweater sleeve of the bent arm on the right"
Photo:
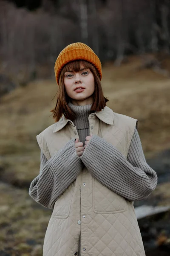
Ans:
[[[147,198],[156,187],[156,172],[146,163],[136,129],[127,160],[116,147],[96,135],[80,158],[99,182],[129,201]]]

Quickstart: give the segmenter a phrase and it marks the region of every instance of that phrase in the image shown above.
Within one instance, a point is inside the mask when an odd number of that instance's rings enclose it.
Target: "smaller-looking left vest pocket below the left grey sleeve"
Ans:
[[[52,218],[68,218],[74,193],[75,181],[66,189],[54,204]]]

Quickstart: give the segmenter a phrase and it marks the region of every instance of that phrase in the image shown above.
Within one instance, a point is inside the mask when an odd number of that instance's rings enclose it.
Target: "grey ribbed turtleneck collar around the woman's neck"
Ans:
[[[85,106],[77,106],[69,102],[68,106],[76,114],[74,125],[76,125],[77,129],[89,128],[88,116],[90,114],[92,104]]]

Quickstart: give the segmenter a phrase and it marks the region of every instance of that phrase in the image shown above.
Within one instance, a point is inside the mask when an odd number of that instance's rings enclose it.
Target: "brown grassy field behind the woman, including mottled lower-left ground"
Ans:
[[[170,148],[170,79],[153,70],[139,71],[139,65],[137,57],[130,57],[129,62],[121,67],[105,64],[102,87],[109,99],[108,107],[139,120],[144,153],[150,157]],[[170,67],[168,59],[165,65],[167,69]],[[5,182],[0,185],[3,195],[0,212],[5,215],[0,218],[3,227],[0,229],[0,250],[4,246],[14,248],[11,251],[8,249],[11,255],[15,255],[12,253],[16,251],[25,253],[22,255],[33,255],[27,254],[33,250],[34,256],[42,255],[42,241],[50,210],[37,206],[27,190],[40,166],[36,135],[54,123],[50,110],[55,105],[52,99],[56,91],[55,79],[38,80],[26,87],[18,87],[0,99],[0,177]],[[160,185],[160,193],[164,190]],[[159,186],[155,193],[159,194]],[[165,204],[169,196],[165,196]],[[12,211],[9,210],[11,208]],[[32,237],[36,242],[31,244],[27,240]],[[40,244],[39,247],[36,247],[37,244]]]

